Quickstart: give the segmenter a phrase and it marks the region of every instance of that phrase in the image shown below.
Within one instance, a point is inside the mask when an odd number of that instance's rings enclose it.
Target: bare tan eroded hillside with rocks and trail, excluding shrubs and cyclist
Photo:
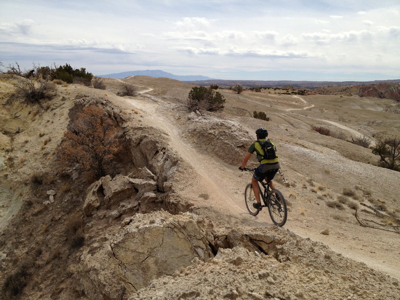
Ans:
[[[1,81],[5,298],[400,294],[398,233],[361,227],[354,217],[354,208],[363,213],[360,202],[398,215],[399,173],[374,166],[370,149],[310,130],[324,125],[371,139],[377,131],[398,132],[398,114],[383,109],[389,100],[222,90],[222,113],[197,114],[184,106],[191,85],[145,76],[124,81],[143,93],[117,96],[116,79],[105,80],[106,90],[57,85],[45,107],[21,103],[12,79]],[[88,105],[118,125],[122,149],[110,175],[94,182],[60,168],[55,152]],[[253,110],[270,120],[253,118]],[[250,176],[237,166],[259,126],[278,148],[276,180],[289,204],[283,228],[267,211],[249,215],[243,201]]]

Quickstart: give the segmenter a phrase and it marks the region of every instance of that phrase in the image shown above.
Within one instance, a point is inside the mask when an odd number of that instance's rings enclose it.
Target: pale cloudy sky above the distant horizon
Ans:
[[[400,0],[0,0],[0,61],[93,74],[400,78]]]

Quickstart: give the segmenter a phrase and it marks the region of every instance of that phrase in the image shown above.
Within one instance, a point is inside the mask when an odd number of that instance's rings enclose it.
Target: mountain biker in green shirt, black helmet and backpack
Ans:
[[[255,130],[255,134],[257,136],[257,140],[248,147],[247,153],[246,155],[244,155],[243,161],[241,162],[239,169],[243,170],[245,168],[248,159],[255,151],[257,154],[257,160],[260,165],[255,169],[254,176],[251,178],[251,186],[254,191],[255,199],[257,200],[257,203],[253,203],[253,207],[256,209],[261,209],[262,206],[257,181],[262,181],[263,179],[265,179],[266,182],[269,182],[269,186],[271,187],[271,189],[275,189],[275,183],[272,182],[272,179],[279,169],[279,159],[277,156],[273,159],[264,159],[263,157],[264,151],[262,150],[258,140],[265,141],[266,137],[268,136],[268,131],[265,128],[258,128],[257,130]],[[271,140],[269,141],[272,143],[276,151],[275,144]]]

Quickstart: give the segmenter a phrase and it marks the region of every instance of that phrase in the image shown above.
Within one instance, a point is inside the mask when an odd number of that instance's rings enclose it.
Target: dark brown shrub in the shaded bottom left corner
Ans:
[[[4,300],[16,299],[29,279],[28,264],[22,264],[15,268],[1,286],[1,294]]]

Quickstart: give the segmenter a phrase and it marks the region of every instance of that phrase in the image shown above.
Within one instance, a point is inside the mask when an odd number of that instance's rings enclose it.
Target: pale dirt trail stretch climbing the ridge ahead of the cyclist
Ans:
[[[179,128],[163,115],[160,106],[165,102],[152,96],[151,99],[125,99],[114,96],[114,100],[119,105],[140,110],[146,124],[165,131],[170,139],[170,147],[176,150],[179,156],[193,167],[196,173],[188,174],[187,180],[190,182],[182,183],[180,190],[182,197],[189,201],[198,199],[201,203],[200,206],[211,206],[227,214],[234,214],[239,217],[248,216],[243,201],[243,190],[245,182],[250,180],[249,174],[240,174],[231,165],[223,164],[219,160],[216,161],[190,146],[182,138]],[[209,197],[204,199],[199,197],[200,194],[207,194]]]

